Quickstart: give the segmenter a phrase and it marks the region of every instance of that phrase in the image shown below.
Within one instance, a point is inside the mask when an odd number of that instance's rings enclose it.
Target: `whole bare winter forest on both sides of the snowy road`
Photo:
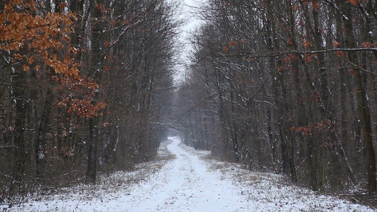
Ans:
[[[153,161],[171,129],[315,192],[376,194],[376,0],[206,0],[183,62],[180,4],[0,1],[0,203]]]

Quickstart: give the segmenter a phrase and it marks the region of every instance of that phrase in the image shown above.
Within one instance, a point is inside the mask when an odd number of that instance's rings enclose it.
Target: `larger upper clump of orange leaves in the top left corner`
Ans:
[[[28,8],[28,11],[18,11],[15,8]],[[71,12],[47,13],[42,17],[31,11],[37,11],[37,1],[9,1],[4,5],[4,11],[0,14],[0,50],[16,52],[12,61],[25,59],[29,65],[33,65],[35,56],[56,73],[65,70],[64,74],[70,75],[69,69],[55,69],[56,66],[52,64],[57,64],[62,59],[52,52],[65,49],[63,42],[69,42],[69,34],[73,32],[72,20],[76,17]],[[23,47],[28,48],[28,52],[21,54],[19,50]],[[30,54],[32,56],[28,57]],[[71,66],[74,61],[64,61],[64,64]],[[26,66],[23,69],[30,70]]]

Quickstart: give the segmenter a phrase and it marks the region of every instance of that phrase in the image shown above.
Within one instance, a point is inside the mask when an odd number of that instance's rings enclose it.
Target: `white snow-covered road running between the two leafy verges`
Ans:
[[[197,155],[180,148],[179,139],[170,141],[167,148],[176,159],[152,182],[134,190],[130,211],[242,211],[247,207],[236,186],[208,172]]]

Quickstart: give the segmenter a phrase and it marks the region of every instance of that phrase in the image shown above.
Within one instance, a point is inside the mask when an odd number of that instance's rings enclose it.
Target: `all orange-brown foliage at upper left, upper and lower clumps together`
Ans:
[[[70,11],[47,12],[40,16],[39,1],[35,0],[5,2],[0,13],[0,52],[11,52],[10,60],[22,62],[23,71],[52,69],[52,81],[56,82],[54,91],[77,90],[80,98],[63,95],[58,100],[58,106],[66,107],[67,113],[81,117],[100,115],[105,104],[93,102],[98,85],[90,78],[81,78],[80,65],[74,59],[74,54],[81,50],[70,45],[76,16]]]

